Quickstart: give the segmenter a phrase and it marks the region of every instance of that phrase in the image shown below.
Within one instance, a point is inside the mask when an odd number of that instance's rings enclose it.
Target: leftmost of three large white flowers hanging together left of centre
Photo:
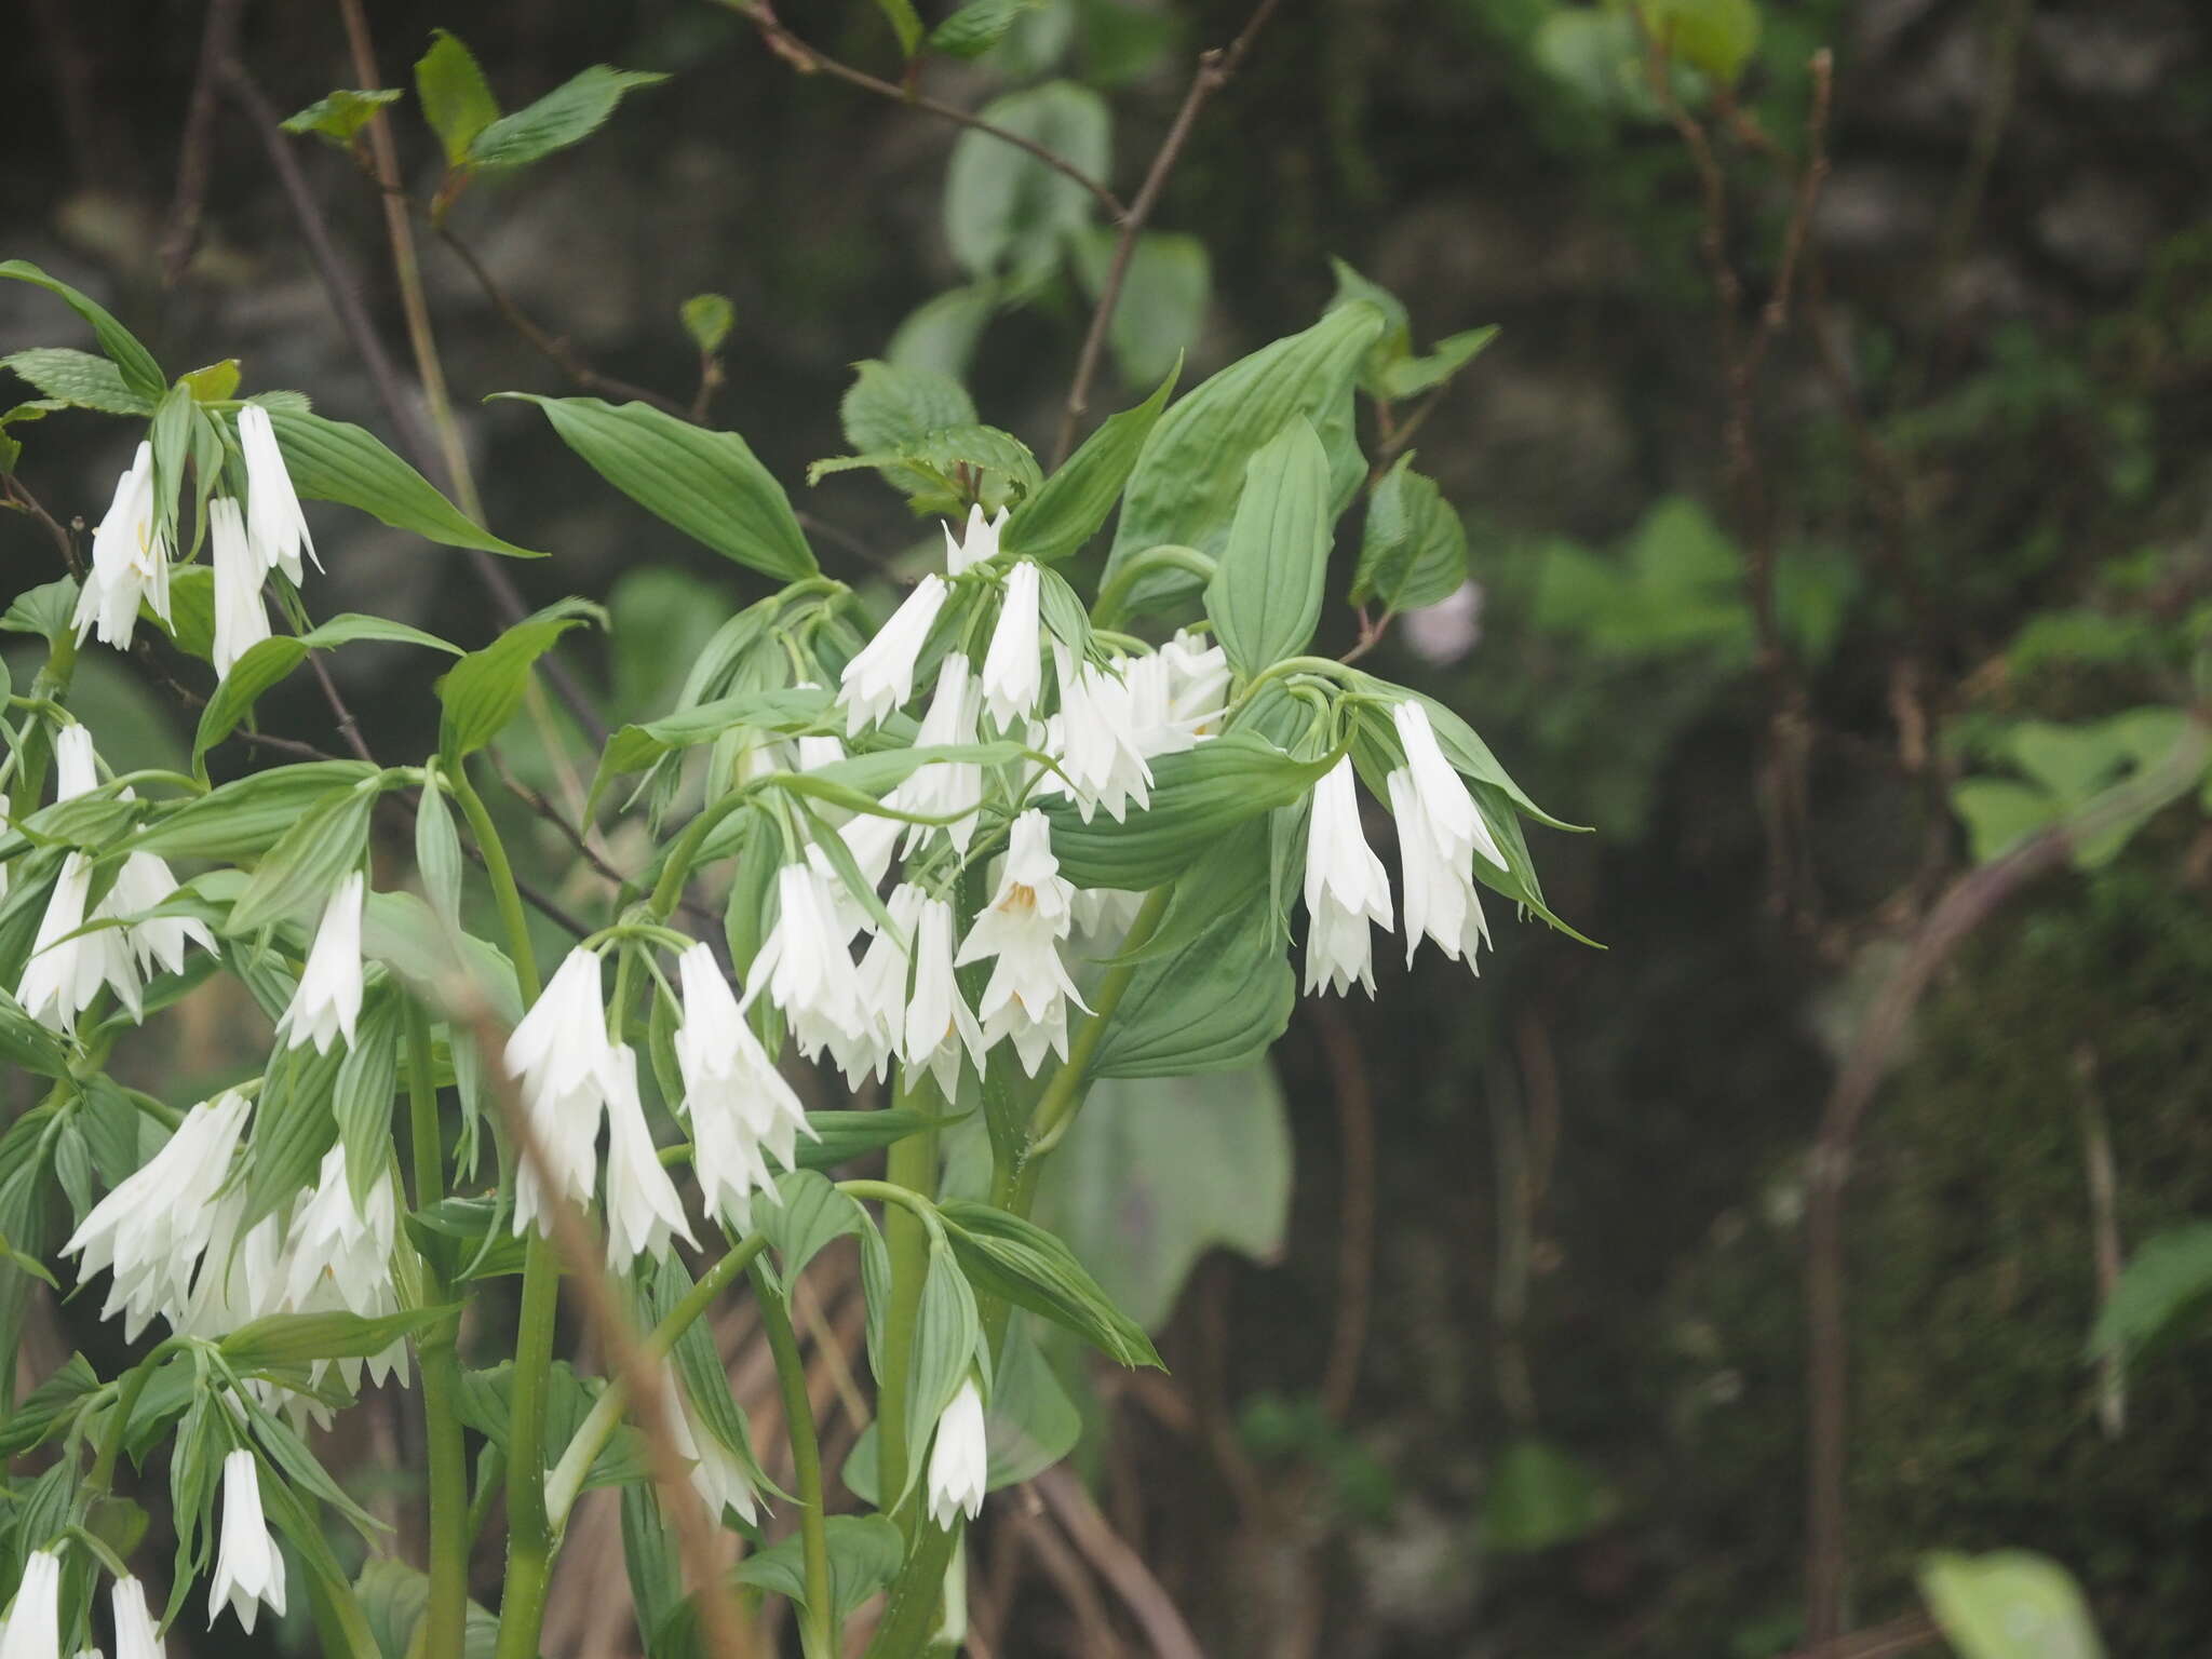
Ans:
[[[507,1073],[522,1079],[522,1110],[544,1159],[544,1170],[538,1159],[522,1159],[515,1232],[533,1221],[540,1232],[553,1232],[546,1183],[575,1203],[591,1201],[599,1115],[606,1110],[613,1068],[606,1006],[599,1002],[599,958],[577,947],[507,1040]]]

